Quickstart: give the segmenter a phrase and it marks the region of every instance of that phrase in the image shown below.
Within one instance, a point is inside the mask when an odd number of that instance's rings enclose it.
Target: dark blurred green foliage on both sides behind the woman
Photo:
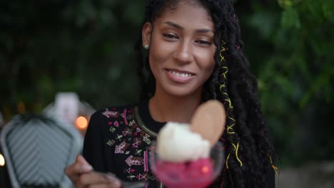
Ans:
[[[0,110],[39,113],[59,91],[94,108],[137,100],[144,1],[0,2]],[[280,166],[334,160],[334,1],[235,1]]]

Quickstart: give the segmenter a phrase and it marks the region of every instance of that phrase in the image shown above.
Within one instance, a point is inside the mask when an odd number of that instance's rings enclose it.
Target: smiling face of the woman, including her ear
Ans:
[[[181,2],[143,26],[156,93],[198,95],[215,66],[214,23],[201,6]]]

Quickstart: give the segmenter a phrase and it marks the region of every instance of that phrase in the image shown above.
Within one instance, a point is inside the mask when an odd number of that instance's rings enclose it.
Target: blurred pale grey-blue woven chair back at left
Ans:
[[[73,125],[43,115],[16,115],[0,142],[13,188],[72,187],[64,169],[81,152]]]

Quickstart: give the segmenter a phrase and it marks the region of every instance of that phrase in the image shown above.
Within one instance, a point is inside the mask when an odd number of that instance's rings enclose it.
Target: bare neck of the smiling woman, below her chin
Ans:
[[[201,95],[176,97],[156,93],[148,103],[153,120],[158,122],[189,123],[196,108],[201,103]]]

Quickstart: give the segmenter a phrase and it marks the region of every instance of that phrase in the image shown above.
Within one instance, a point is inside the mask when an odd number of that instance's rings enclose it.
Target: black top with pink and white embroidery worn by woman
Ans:
[[[149,182],[146,187],[163,187],[148,164],[151,142],[163,125],[148,113],[148,102],[98,110],[87,128],[83,157],[96,171],[112,172],[127,182]]]

